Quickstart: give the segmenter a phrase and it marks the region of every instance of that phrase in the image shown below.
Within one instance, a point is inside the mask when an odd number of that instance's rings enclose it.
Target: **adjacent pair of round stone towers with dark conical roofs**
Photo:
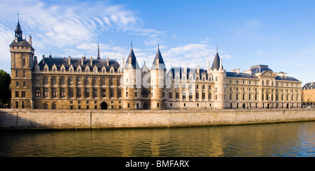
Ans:
[[[166,109],[166,76],[167,69],[159,47],[150,69],[146,64],[139,67],[131,47],[123,71],[124,103],[135,108]]]

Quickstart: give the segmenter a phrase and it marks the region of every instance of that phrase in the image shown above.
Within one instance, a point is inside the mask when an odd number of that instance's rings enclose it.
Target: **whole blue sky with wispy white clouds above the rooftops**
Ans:
[[[207,68],[216,45],[226,70],[257,64],[315,80],[315,1],[43,1],[1,0],[0,68],[10,73],[10,43],[20,16],[36,56],[97,57],[122,62],[130,43],[151,67],[160,43],[169,69]]]

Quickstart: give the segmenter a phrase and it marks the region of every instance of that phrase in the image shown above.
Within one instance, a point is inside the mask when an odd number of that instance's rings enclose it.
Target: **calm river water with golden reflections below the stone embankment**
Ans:
[[[0,156],[315,156],[315,121],[93,131],[1,131]]]

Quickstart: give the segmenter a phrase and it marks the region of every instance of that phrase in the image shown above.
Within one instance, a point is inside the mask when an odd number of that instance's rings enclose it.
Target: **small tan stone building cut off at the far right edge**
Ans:
[[[315,82],[307,82],[302,87],[302,105],[312,107],[315,103]]]

